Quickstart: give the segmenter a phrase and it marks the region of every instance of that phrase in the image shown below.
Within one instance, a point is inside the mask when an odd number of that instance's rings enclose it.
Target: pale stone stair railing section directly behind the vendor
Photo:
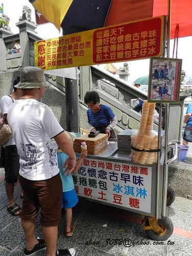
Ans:
[[[141,114],[130,107],[131,99],[147,99],[146,93],[99,67],[82,67],[80,70],[80,91],[83,91],[81,100],[83,101],[86,91],[97,91],[101,103],[109,105],[115,113],[121,129],[138,129]],[[87,76],[84,73],[87,73]],[[158,129],[157,124],[154,124],[154,129]]]

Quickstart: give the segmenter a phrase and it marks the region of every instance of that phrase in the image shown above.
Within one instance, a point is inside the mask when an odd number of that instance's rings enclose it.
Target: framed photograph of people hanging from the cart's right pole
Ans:
[[[179,102],[182,59],[152,57],[148,102]]]

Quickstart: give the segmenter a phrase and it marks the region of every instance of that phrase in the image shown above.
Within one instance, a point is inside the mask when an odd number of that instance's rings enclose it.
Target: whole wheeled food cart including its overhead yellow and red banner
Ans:
[[[145,19],[37,41],[34,46],[35,66],[52,70],[162,56],[164,21],[162,16],[153,18],[153,21]],[[150,43],[141,44],[143,38]],[[126,50],[116,47],[118,40],[123,40]],[[129,50],[129,44],[134,49],[141,46],[140,51]],[[128,150],[118,148],[117,141],[109,141],[104,152],[88,155],[83,160],[73,178],[78,196],[137,212],[144,216],[143,228],[151,239],[167,240],[173,233],[173,223],[166,212],[167,198],[169,204],[173,199],[172,194],[167,196],[167,191],[172,191],[167,190],[168,163],[177,158],[178,149],[175,143],[174,157],[167,160],[168,105],[165,104],[164,139],[161,136],[162,104],[159,109],[155,164],[137,164],[131,160]]]

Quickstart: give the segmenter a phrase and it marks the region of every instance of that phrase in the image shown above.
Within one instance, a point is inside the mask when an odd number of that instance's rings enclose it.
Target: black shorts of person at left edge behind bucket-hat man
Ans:
[[[5,147],[5,180],[8,183],[16,183],[19,174],[19,155],[15,145]]]

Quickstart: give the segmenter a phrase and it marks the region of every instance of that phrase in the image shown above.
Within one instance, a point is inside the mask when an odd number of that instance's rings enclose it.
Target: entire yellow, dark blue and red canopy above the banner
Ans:
[[[29,0],[58,29],[61,26],[64,35],[167,15],[168,6],[168,0],[60,0],[55,15],[53,11],[50,12],[55,9],[55,2],[44,1],[47,5],[42,0]],[[66,2],[68,5],[65,9],[63,3]],[[171,0],[171,6],[170,38],[191,36],[192,1]],[[175,35],[177,24],[179,30]]]

